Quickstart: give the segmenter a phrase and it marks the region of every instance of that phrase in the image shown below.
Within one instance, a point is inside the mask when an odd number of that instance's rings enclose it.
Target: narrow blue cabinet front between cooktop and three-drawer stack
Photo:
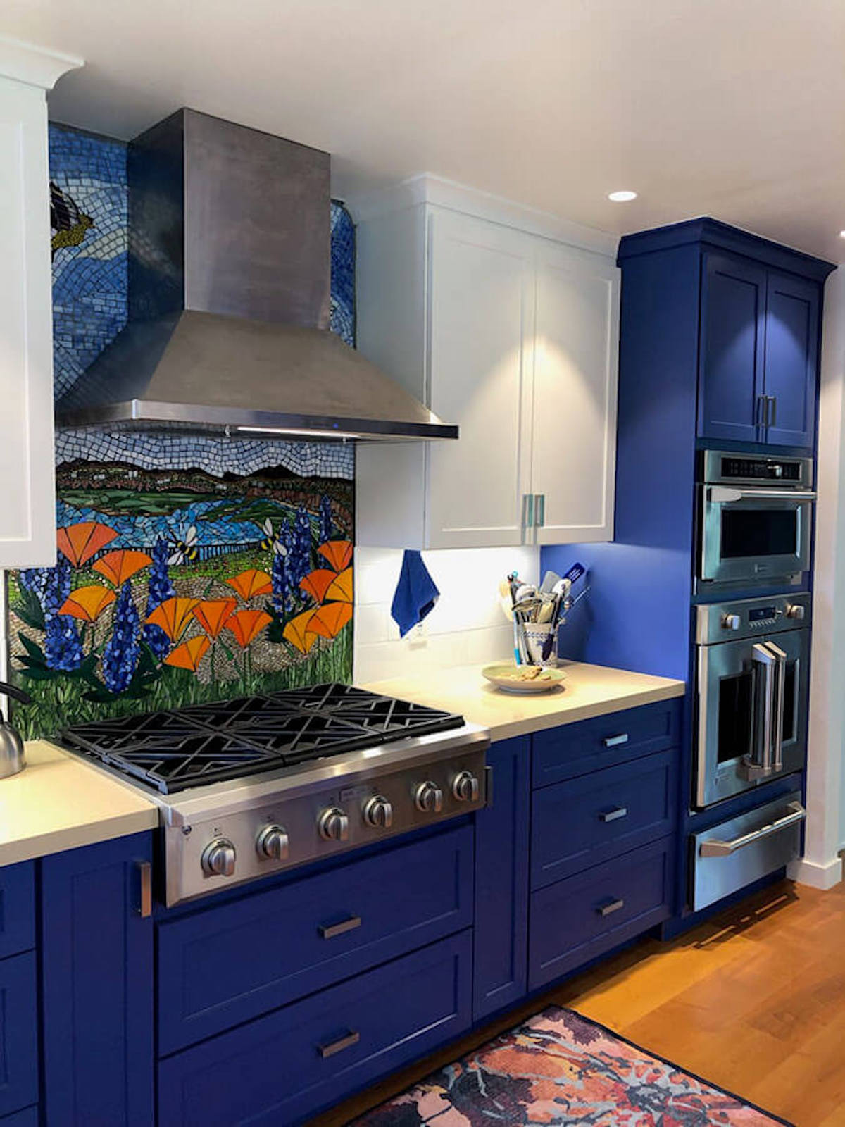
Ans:
[[[492,804],[475,815],[475,1021],[527,988],[531,737],[490,746]]]

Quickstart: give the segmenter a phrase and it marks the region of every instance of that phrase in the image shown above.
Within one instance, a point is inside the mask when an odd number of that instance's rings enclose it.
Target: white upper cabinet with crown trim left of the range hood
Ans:
[[[79,65],[0,38],[0,568],[55,564],[45,91]]]

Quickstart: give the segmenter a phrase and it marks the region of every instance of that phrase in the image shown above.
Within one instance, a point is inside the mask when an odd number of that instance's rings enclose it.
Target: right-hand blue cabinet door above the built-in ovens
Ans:
[[[766,442],[812,446],[818,340],[818,285],[789,274],[770,273],[765,393],[774,397],[774,403]]]

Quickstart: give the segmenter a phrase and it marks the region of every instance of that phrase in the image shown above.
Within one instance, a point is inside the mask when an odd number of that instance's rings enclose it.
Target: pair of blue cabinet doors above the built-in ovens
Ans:
[[[819,303],[815,281],[704,250],[701,437],[812,446]]]

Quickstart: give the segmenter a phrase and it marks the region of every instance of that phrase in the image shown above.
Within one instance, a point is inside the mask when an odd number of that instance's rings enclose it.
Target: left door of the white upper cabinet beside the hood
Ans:
[[[530,474],[531,239],[457,213],[435,212],[429,223],[429,402],[461,436],[427,444],[427,544],[519,544]]]

